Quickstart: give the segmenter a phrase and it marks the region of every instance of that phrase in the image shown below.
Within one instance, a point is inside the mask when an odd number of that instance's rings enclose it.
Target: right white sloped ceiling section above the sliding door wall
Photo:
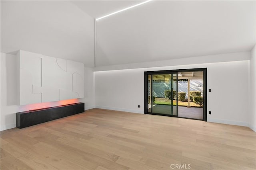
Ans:
[[[255,1],[151,1],[97,21],[96,65],[250,51]]]

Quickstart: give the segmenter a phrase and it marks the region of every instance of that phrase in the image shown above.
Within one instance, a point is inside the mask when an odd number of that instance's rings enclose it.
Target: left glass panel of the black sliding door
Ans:
[[[149,74],[147,84],[148,113],[178,116],[177,73]]]

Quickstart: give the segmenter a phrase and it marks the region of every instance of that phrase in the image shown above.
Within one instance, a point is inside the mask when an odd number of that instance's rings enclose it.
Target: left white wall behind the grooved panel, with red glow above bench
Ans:
[[[18,105],[17,84],[18,84],[18,66],[16,55],[1,53],[1,131],[16,127],[15,113],[30,109],[43,107],[53,107],[63,104],[84,102],[85,110],[94,107],[94,74],[92,68],[84,68],[84,86],[85,98],[64,100],[58,102],[46,102],[41,104]]]

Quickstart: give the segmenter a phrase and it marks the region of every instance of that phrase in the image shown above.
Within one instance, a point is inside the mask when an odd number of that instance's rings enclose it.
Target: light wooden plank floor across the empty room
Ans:
[[[248,127],[104,109],[1,132],[1,170],[256,169]]]

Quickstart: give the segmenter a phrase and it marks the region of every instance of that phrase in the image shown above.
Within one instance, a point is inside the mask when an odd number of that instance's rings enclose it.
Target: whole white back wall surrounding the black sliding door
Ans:
[[[144,71],[204,67],[207,88],[212,89],[207,92],[207,109],[212,111],[207,120],[248,126],[248,60],[95,72],[96,107],[144,113]]]

